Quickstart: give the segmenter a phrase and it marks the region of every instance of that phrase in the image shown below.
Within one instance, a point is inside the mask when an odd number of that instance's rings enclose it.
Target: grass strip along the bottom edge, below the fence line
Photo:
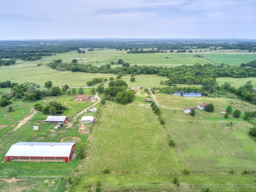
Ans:
[[[180,184],[186,186],[191,185],[193,190],[188,188],[174,188],[172,183],[174,177],[177,176]],[[200,189],[193,187],[198,184],[230,184],[230,189],[210,189],[214,192],[252,192],[253,189],[234,189],[232,184],[251,184],[255,186],[254,175],[242,175],[242,174],[86,174],[80,177],[80,181],[77,184],[73,184],[70,188],[70,192],[84,192],[90,191],[90,189],[96,188],[96,183],[101,181],[101,191],[141,191],[141,192],[202,192],[206,188]]]

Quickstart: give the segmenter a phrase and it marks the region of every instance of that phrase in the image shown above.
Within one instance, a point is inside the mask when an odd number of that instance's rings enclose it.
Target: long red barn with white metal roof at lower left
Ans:
[[[70,162],[76,143],[18,142],[5,155],[6,161]]]

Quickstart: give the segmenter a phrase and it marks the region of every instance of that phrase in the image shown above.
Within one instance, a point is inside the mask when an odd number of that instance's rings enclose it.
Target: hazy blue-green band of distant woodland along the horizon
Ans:
[[[117,50],[138,50],[155,48],[158,50],[188,50],[219,47],[256,51],[255,41],[244,40],[170,40],[170,39],[92,39],[92,40],[33,40],[0,41],[3,53],[64,53],[84,48],[112,48]]]

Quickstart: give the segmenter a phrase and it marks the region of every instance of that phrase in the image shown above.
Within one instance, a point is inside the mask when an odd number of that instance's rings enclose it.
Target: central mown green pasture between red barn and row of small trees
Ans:
[[[175,151],[150,105],[108,102],[98,115],[90,136],[83,173],[174,173],[180,170]]]

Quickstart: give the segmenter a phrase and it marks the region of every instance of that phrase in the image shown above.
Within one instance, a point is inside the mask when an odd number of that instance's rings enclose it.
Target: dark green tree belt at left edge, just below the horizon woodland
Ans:
[[[42,59],[42,56],[52,56],[51,53],[0,53],[0,58],[21,59],[24,61],[35,61]],[[55,54],[54,54],[55,55]]]

